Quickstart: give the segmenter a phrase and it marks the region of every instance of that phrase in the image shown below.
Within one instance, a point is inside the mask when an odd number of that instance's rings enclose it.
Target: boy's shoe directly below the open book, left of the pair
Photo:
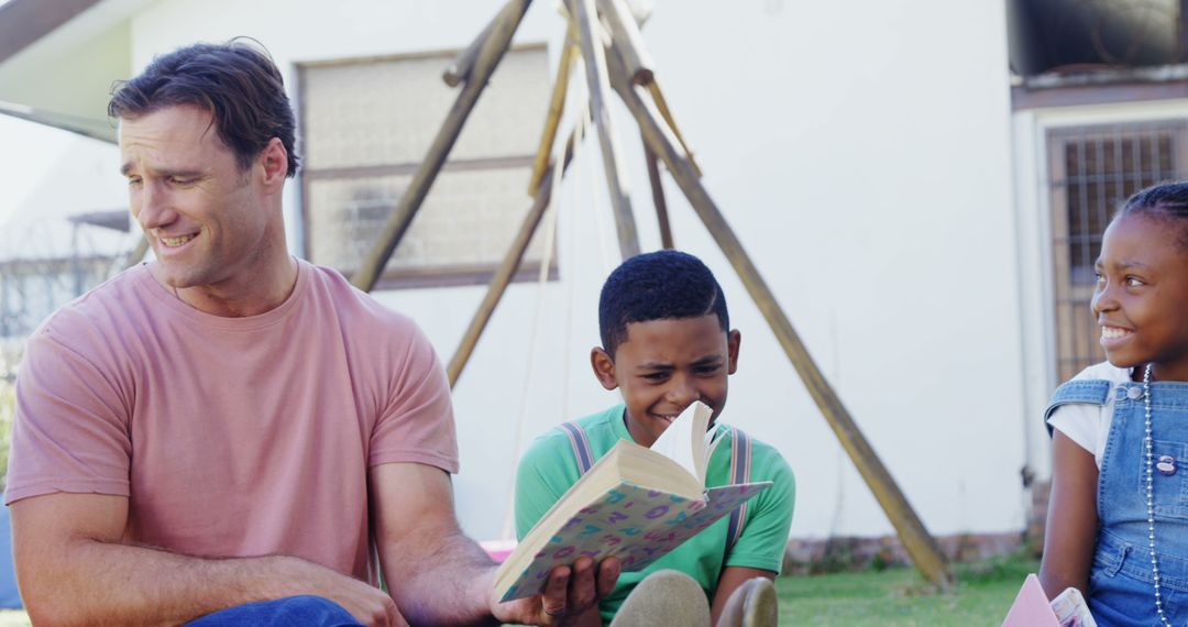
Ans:
[[[709,601],[701,584],[678,570],[644,577],[611,621],[611,627],[709,627]]]

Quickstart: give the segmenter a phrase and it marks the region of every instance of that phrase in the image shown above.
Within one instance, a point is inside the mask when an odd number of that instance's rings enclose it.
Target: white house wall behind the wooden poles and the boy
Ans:
[[[133,19],[132,57],[139,68],[184,43],[248,34],[292,84],[296,62],[465,46],[498,6],[162,1]],[[548,42],[556,58],[562,32],[541,1],[517,40]],[[656,2],[645,38],[704,184],[925,525],[1022,528],[1001,4],[669,0]],[[644,247],[655,248],[638,139],[625,109],[615,113]],[[593,191],[605,185],[594,144],[562,194],[563,279],[543,290],[544,321],[531,324],[538,287],[512,286],[456,390],[459,511],[476,537],[501,530],[522,398],[525,437],[615,399],[587,361],[598,289],[618,261],[607,203]],[[725,417],[777,445],[797,473],[792,534],[891,533],[725,258],[676,186],[666,191],[678,246],[715,270],[742,330]],[[380,297],[418,319],[448,360],[482,289]]]

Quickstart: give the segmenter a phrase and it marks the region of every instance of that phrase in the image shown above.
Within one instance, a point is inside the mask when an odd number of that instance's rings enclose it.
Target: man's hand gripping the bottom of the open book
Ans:
[[[611,594],[620,570],[617,558],[607,558],[595,565],[593,559],[582,557],[573,568],[552,569],[544,584],[544,594],[506,603],[499,603],[492,596],[491,613],[503,622],[573,625],[575,619]]]

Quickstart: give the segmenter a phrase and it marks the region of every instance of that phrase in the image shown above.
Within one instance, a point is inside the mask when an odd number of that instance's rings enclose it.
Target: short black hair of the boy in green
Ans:
[[[726,296],[706,264],[680,251],[657,251],[626,260],[607,277],[599,298],[598,322],[602,349],[627,340],[627,324],[656,319],[718,316],[722,331],[731,328]]]

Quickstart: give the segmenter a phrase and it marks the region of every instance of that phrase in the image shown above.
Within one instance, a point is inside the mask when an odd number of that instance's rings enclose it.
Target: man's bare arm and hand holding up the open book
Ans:
[[[371,509],[388,593],[413,625],[503,622],[555,625],[606,595],[618,560],[589,558],[549,575],[543,595],[499,603],[495,564],[462,534],[449,475],[418,463],[371,469]],[[596,580],[596,581],[595,581]],[[549,609],[552,614],[545,613]]]

